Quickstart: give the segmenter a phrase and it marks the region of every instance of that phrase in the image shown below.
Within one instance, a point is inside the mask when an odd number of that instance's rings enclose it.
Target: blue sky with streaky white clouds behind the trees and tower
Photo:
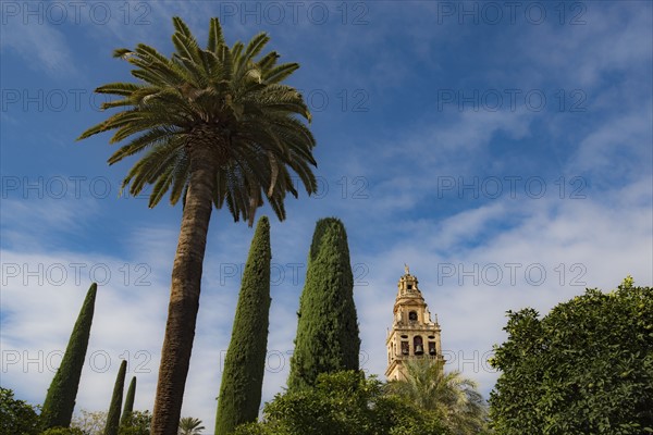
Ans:
[[[76,410],[108,407],[119,360],[152,408],[181,208],[119,197],[97,86],[128,80],[115,48],[172,52],[258,32],[301,67],[318,194],[272,219],[263,399],[281,391],[315,222],[346,225],[361,363],[381,377],[404,263],[442,327],[449,370],[483,394],[505,311],[546,312],[631,274],[652,285],[652,3],[12,2],[2,7],[1,384],[40,403],[91,279],[94,328]],[[261,214],[269,214],[266,207]],[[221,358],[252,229],[213,213],[184,415],[212,432]]]

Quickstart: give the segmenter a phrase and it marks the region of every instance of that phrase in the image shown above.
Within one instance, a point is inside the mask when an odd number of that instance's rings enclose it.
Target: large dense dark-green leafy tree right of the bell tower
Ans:
[[[491,363],[497,434],[634,435],[653,431],[653,289],[628,277],[587,289],[542,320],[508,312]]]

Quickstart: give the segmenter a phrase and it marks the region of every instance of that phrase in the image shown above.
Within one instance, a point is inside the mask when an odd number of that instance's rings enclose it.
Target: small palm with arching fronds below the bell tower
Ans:
[[[444,372],[443,361],[428,358],[406,362],[405,378],[387,390],[426,411],[436,412],[455,435],[486,433],[486,408],[477,383],[458,371]]]

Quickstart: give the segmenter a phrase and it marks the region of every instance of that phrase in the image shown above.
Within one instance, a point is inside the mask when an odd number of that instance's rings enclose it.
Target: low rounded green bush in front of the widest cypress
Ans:
[[[322,373],[315,387],[276,395],[263,409],[262,423],[236,428],[236,435],[440,435],[436,418],[397,396],[386,395],[361,372]]]

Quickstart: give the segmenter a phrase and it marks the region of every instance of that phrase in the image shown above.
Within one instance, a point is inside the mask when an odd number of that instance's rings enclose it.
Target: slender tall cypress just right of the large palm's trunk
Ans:
[[[231,434],[238,424],[252,422],[258,415],[268,348],[271,258],[270,223],[262,216],[249,248],[224,359],[215,435]]]

